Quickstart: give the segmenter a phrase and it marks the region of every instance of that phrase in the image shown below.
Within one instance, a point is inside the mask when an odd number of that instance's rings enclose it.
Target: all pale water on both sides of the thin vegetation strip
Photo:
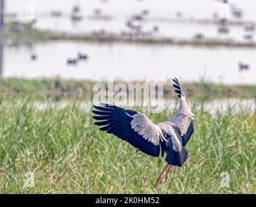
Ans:
[[[244,15],[236,19],[229,14],[231,21],[256,22],[255,0],[231,0],[237,4]],[[83,21],[73,23],[71,8],[81,8]],[[31,10],[32,9],[32,10]],[[109,20],[91,19],[94,10],[100,9]],[[72,33],[92,32],[105,29],[107,32],[128,30],[125,26],[132,15],[148,10],[145,21],[137,21],[143,30],[159,26],[154,37],[168,36],[176,39],[191,39],[200,32],[205,38],[244,40],[246,34],[242,25],[229,26],[229,34],[218,34],[218,25],[196,23],[211,20],[212,14],[222,13],[223,4],[214,0],[8,0],[7,14],[16,13],[16,19],[26,21],[27,14],[34,15],[35,27]],[[61,17],[51,17],[51,11],[59,10]],[[177,17],[177,12],[182,17]],[[7,17],[8,19],[8,17]],[[194,22],[173,21],[177,19],[196,19]],[[255,32],[251,33],[255,34]],[[255,40],[252,40],[255,41]],[[67,58],[74,58],[77,52],[89,55],[89,60],[79,61],[76,66],[66,64]],[[38,58],[31,60],[31,54]],[[165,82],[176,76],[182,81],[198,81],[200,78],[216,83],[255,84],[256,50],[227,47],[178,47],[170,45],[135,45],[81,43],[55,41],[34,43],[32,47],[5,47],[3,56],[4,77],[21,78],[61,78],[106,80],[107,78],[126,81],[147,80]],[[250,64],[247,71],[238,71],[238,61]]]

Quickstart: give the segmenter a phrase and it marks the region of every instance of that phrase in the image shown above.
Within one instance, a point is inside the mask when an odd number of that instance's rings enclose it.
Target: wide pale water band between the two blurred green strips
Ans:
[[[86,61],[67,65],[77,52]],[[38,58],[31,60],[31,54]],[[183,82],[200,78],[216,83],[256,83],[256,50],[228,47],[177,47],[171,45],[107,44],[72,41],[35,43],[32,47],[5,47],[4,77],[61,78],[165,82],[173,76]],[[250,63],[238,71],[238,61]]]

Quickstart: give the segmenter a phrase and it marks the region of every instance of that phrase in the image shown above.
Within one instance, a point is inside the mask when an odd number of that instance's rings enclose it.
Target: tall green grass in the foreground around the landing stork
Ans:
[[[164,158],[135,154],[97,130],[92,113],[76,101],[44,110],[26,97],[1,96],[0,103],[0,193],[256,193],[256,127],[248,109],[214,116],[192,109],[188,160],[156,188]],[[160,122],[173,113],[147,115]],[[24,189],[27,171],[34,172],[34,187]],[[220,188],[223,171],[229,188]]]

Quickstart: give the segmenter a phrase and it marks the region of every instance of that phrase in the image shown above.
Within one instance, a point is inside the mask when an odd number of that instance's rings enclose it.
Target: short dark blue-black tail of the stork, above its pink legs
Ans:
[[[188,152],[184,147],[182,147],[181,151],[168,151],[166,155],[166,162],[171,166],[183,166],[186,158],[188,157]]]

